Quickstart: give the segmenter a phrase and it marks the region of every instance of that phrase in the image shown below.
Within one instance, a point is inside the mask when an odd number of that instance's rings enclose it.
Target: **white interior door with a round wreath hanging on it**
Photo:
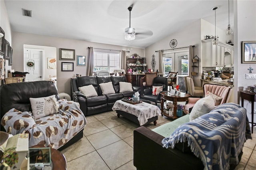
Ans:
[[[24,72],[29,72],[29,74],[26,74],[26,81],[43,80],[42,53],[42,49],[24,48]],[[32,61],[34,66],[28,67],[28,61]]]

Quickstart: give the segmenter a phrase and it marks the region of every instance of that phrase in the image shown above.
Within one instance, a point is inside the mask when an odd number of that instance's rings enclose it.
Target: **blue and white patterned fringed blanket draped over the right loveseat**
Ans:
[[[246,109],[235,103],[225,103],[197,119],[180,125],[163,147],[188,141],[191,151],[202,160],[204,170],[228,170],[238,164],[238,155],[246,139],[251,139]]]

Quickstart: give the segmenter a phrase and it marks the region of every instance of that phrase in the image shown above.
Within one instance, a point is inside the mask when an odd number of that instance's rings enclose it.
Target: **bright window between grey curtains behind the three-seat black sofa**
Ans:
[[[93,71],[108,70],[112,73],[119,69],[120,54],[94,52]]]

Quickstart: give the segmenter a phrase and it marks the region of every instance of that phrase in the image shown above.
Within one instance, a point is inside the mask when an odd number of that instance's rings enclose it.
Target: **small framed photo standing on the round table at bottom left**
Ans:
[[[29,165],[50,165],[51,148],[29,148],[28,149]]]

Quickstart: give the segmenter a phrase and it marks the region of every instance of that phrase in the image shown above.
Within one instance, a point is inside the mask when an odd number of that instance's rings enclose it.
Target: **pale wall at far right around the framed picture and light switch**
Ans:
[[[245,74],[249,73],[248,68],[252,65],[252,73],[256,73],[256,64],[241,63],[241,42],[256,41],[256,1],[255,0],[238,0],[234,1],[234,93],[235,102],[240,103],[240,91],[249,90],[251,85],[256,85],[256,79],[245,79]],[[254,104],[254,113],[256,112],[256,102]],[[249,121],[252,117],[251,103],[244,101],[244,107],[247,110]],[[254,123],[256,117],[254,116]]]

